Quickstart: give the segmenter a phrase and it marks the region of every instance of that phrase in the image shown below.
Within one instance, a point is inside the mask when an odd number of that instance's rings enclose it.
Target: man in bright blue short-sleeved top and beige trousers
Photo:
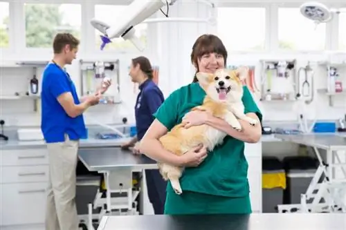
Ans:
[[[78,52],[80,41],[69,33],[59,33],[53,41],[54,57],[42,76],[41,128],[48,148],[49,184],[46,207],[47,230],[77,230],[75,170],[78,144],[86,135],[82,113],[98,104],[100,94],[79,99],[75,84],[64,70]]]

